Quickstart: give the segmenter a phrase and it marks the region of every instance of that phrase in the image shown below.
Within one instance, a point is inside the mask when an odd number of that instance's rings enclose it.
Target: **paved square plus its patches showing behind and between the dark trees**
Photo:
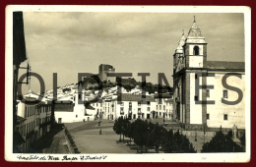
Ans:
[[[163,119],[154,119],[151,122],[162,124]],[[128,144],[130,139],[124,138],[124,141],[118,141],[120,136],[114,133],[113,123],[111,120],[101,120],[100,126],[98,126],[97,121],[71,123],[65,124],[65,126],[73,136],[81,153],[137,153],[137,149],[140,152],[141,149],[134,142],[131,145]],[[170,120],[165,121],[165,123],[174,124]],[[101,135],[99,135],[100,129]],[[197,137],[197,141],[195,141],[194,137],[189,137],[188,139],[193,143],[197,152],[201,152],[204,138]],[[206,138],[205,142],[210,141],[210,139],[212,138]],[[149,149],[148,153],[156,153],[156,151]]]

